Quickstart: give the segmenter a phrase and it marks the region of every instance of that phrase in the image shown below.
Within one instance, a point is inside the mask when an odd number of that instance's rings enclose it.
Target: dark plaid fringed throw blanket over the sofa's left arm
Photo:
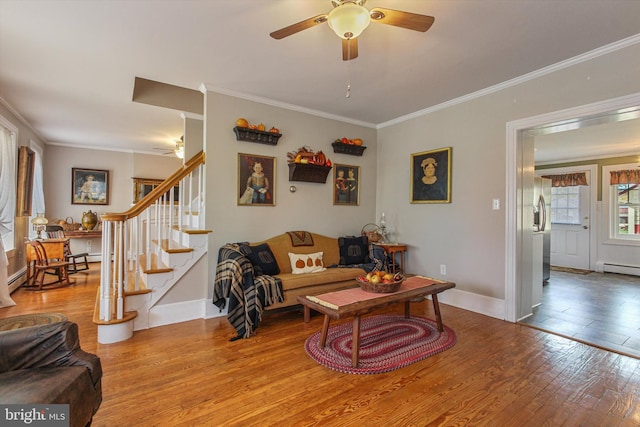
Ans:
[[[251,261],[242,251],[247,243],[228,243],[218,252],[216,280],[213,285],[213,303],[224,309],[229,299],[227,319],[238,332],[232,338],[249,338],[262,320],[265,307],[284,300],[282,282],[272,276],[254,277]]]

